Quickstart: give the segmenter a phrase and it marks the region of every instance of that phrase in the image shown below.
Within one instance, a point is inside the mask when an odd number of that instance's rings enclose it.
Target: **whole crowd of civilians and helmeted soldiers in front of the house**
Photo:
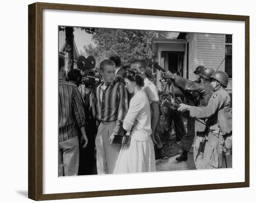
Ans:
[[[93,174],[95,159],[96,174],[155,171],[163,147],[158,130],[160,99],[146,61],[135,60],[123,69],[121,58],[110,56],[100,63],[101,82],[84,92],[80,70],[65,74],[64,66],[59,57],[59,176]],[[232,110],[225,90],[229,78],[203,66],[194,73],[196,81],[179,72],[164,73],[165,94],[179,107],[170,106],[165,112],[163,138],[168,139],[174,121],[183,150],[176,160],[186,161],[196,132],[196,168],[220,168],[232,148]],[[187,104],[176,95],[178,91],[188,98]],[[187,133],[181,116],[185,111],[189,112]],[[128,142],[116,143],[117,135]]]

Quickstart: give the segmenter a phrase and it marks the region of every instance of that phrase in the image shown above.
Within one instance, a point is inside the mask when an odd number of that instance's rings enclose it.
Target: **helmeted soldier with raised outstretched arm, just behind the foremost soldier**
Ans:
[[[201,77],[202,82],[198,83],[195,81],[190,81],[189,79],[183,78],[183,77],[177,77],[174,74],[172,74],[170,71],[167,71],[165,73],[166,77],[174,80],[175,85],[182,90],[182,92],[186,95],[186,92],[194,92],[198,96],[198,106],[204,107],[207,106],[208,101],[213,94],[211,85],[210,85],[210,76],[214,72],[211,68],[205,68],[204,66],[198,66],[194,73],[198,73],[198,71],[201,70],[197,76]],[[193,104],[192,104],[193,105]],[[194,118],[191,118],[188,116],[188,133],[183,136],[182,139],[182,155],[177,157],[177,161],[186,161],[188,159],[188,152],[190,151],[190,148],[193,144],[194,138],[195,138],[195,132],[197,134],[196,137],[196,143],[194,145],[194,160],[195,160],[195,166],[197,169],[205,169],[205,165],[203,162],[203,150],[204,150],[204,143],[205,143],[205,135],[206,133],[206,127],[199,121],[195,121]]]

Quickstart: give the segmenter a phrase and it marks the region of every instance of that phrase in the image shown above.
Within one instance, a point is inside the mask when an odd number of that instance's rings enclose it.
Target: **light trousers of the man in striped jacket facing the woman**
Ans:
[[[115,164],[121,149],[121,144],[108,144],[110,135],[113,133],[116,122],[103,124],[101,122],[95,140],[97,172],[98,174],[113,173]]]

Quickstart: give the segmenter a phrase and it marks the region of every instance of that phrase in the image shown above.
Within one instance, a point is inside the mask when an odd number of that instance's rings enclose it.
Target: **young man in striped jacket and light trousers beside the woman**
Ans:
[[[114,135],[121,134],[122,121],[127,114],[127,91],[115,81],[115,63],[103,60],[100,64],[103,81],[97,87],[97,119],[101,122],[95,140],[98,174],[113,173],[121,144],[111,145]]]

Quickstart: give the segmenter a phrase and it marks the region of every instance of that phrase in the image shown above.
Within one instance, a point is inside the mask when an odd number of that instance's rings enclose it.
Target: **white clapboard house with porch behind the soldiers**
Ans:
[[[179,71],[183,77],[195,80],[193,73],[199,65],[226,71],[229,85],[226,88],[232,94],[232,36],[225,34],[184,33],[176,39],[153,39],[152,51],[159,65],[171,72]],[[157,70],[157,88],[161,72]]]

